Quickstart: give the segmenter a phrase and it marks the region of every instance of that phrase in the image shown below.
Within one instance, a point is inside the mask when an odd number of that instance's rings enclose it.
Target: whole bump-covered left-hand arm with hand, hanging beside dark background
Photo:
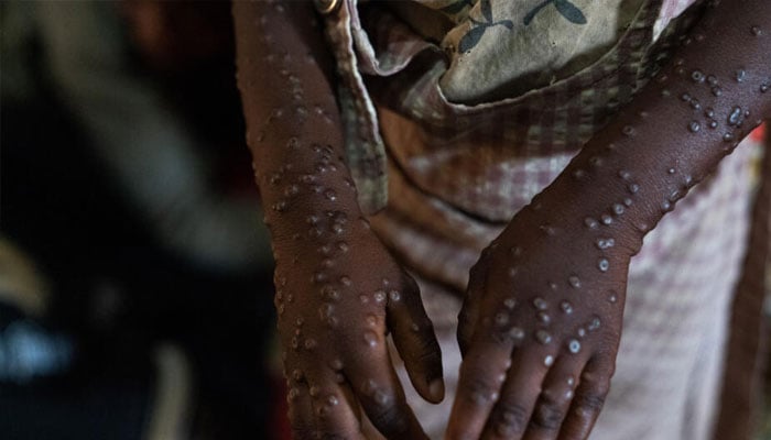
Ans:
[[[391,366],[387,331],[431,402],[444,394],[438,344],[415,283],[357,205],[313,4],[234,4],[247,141],[276,260],[294,436],[362,438],[361,405],[388,438],[424,438]]]

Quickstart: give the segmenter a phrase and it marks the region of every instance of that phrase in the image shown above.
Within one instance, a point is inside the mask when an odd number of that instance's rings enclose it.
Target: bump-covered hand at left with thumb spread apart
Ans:
[[[417,392],[442,400],[442,358],[415,282],[363,219],[329,211],[307,223],[313,240],[276,249],[275,305],[294,438],[365,438],[359,405],[389,439],[426,438],[387,345],[390,331]]]

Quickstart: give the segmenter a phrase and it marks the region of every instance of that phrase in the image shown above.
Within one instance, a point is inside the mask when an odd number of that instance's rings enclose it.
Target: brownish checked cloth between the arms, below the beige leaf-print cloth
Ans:
[[[447,101],[438,85],[446,67],[434,53],[414,63],[424,68],[368,77],[390,158],[389,206],[374,218],[383,240],[421,275],[463,292],[479,251],[631,99],[698,12],[651,46],[660,7],[641,8],[594,65],[510,99]],[[369,34],[383,48],[377,53],[409,41],[411,31],[393,15],[370,12]]]

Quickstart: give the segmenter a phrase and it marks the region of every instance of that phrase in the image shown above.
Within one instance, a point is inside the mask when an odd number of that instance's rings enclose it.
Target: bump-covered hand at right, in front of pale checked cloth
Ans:
[[[629,256],[601,218],[558,217],[525,208],[471,270],[449,439],[585,439],[602,407]]]

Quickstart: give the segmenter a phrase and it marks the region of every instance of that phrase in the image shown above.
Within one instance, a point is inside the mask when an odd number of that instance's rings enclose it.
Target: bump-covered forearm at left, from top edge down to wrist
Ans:
[[[310,1],[237,1],[234,15],[247,142],[273,242],[321,242],[360,217],[322,23]]]

